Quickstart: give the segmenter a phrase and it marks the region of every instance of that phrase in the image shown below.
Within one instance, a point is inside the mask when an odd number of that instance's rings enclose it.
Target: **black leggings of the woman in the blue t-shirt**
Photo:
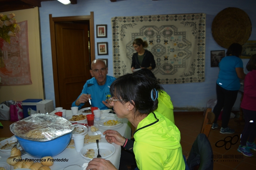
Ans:
[[[213,113],[215,114],[214,123],[217,123],[218,117],[220,115],[220,111],[223,108],[223,113],[221,117],[222,118],[221,127],[227,128],[232,107],[236,102],[238,90],[226,90],[220,87],[220,85],[216,84],[216,92],[217,92],[217,104],[213,109]]]

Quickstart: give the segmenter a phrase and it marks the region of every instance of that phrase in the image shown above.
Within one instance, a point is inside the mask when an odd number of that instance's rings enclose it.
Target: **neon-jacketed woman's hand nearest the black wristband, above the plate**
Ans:
[[[105,138],[108,143],[112,144],[114,142],[115,144],[118,144],[120,146],[124,145],[126,139],[116,130],[106,130],[105,132],[103,132],[103,135],[105,134]]]

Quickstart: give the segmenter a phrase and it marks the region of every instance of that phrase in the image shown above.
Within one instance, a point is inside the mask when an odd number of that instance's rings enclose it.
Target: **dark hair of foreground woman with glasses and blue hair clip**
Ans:
[[[148,78],[142,74],[125,74],[116,78],[110,86],[110,93],[120,102],[130,103],[134,106],[135,115],[149,114],[157,109],[158,100],[151,99],[152,89],[163,90],[159,81]],[[153,90],[153,98],[156,92]],[[139,113],[138,113],[139,112]]]

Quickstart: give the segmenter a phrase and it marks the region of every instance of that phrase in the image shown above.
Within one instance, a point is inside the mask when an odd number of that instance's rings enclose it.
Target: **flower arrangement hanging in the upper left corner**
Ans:
[[[11,37],[15,37],[16,33],[20,32],[20,26],[17,24],[17,21],[16,19],[14,19],[14,17],[14,13],[10,13],[8,15],[0,14],[0,38],[8,42],[9,44],[11,42]],[[0,44],[0,69],[4,69],[5,67],[2,55],[3,53]]]

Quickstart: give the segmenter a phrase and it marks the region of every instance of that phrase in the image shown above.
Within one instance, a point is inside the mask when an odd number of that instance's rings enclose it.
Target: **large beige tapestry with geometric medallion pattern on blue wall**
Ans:
[[[156,61],[154,75],[163,84],[204,81],[204,13],[114,17],[114,76],[132,73],[132,42],[141,38]]]

